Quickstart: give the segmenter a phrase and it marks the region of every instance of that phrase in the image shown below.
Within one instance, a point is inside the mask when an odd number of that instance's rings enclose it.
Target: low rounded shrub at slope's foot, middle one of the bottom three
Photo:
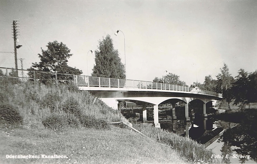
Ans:
[[[59,114],[52,114],[42,121],[42,124],[49,129],[54,131],[63,130],[69,126],[69,123],[65,116]]]

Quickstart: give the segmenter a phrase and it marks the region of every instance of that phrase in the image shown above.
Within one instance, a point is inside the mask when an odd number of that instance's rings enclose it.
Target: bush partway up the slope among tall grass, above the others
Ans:
[[[74,97],[69,97],[68,101],[64,104],[63,111],[66,114],[73,114],[76,118],[81,116],[79,102]]]

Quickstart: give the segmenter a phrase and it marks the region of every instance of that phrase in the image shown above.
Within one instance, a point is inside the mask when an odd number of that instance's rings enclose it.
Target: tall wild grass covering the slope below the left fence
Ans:
[[[18,109],[24,121],[30,124],[46,119],[51,114],[64,114],[64,108],[71,99],[86,116],[104,119],[107,122],[119,121],[119,111],[104,104],[87,91],[70,89],[62,84],[0,84],[0,102],[9,103]],[[31,124],[32,124],[31,123]]]

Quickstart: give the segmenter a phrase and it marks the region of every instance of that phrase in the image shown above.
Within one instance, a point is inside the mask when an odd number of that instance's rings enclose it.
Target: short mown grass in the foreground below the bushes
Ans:
[[[0,163],[183,163],[170,148],[128,129],[66,129],[37,127],[1,129]],[[66,155],[64,159],[6,159],[7,155]]]

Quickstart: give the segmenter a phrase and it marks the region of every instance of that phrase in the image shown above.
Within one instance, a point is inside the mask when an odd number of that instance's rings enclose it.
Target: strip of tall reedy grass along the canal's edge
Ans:
[[[206,150],[201,144],[187,137],[182,137],[163,129],[157,129],[153,126],[135,125],[134,127],[155,141],[171,146],[180,155],[191,159],[193,162],[202,160],[205,163],[216,163],[211,158],[213,153],[210,150]]]

